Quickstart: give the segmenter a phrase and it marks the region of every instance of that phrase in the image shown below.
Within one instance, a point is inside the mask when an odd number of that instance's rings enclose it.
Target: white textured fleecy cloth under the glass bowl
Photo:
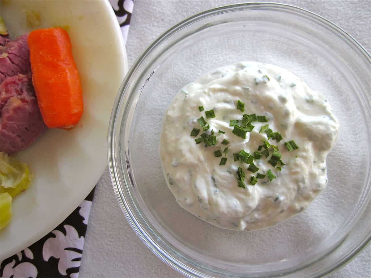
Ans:
[[[331,20],[371,48],[370,1],[280,1]],[[135,1],[127,41],[129,66],[145,47],[175,23],[237,1]],[[329,277],[371,277],[371,246]],[[79,277],[180,277],[138,238],[119,208],[108,171],[98,185],[85,236]]]

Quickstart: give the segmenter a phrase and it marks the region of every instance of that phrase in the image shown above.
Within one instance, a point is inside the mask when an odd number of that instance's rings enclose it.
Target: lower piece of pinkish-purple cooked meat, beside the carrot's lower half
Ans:
[[[31,74],[6,77],[0,84],[0,151],[26,149],[43,133],[43,122]]]

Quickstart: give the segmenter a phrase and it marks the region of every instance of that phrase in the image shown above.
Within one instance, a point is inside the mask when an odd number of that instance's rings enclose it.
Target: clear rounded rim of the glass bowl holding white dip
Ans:
[[[146,231],[145,229],[141,228],[142,225],[139,224],[138,219],[136,215],[131,211],[129,202],[132,202],[129,200],[130,198],[127,198],[125,196],[125,193],[122,191],[122,188],[120,186],[120,181],[117,177],[118,169],[119,167],[119,162],[120,159],[116,159],[117,154],[119,154],[119,157],[121,157],[121,148],[118,147],[116,149],[115,146],[115,137],[117,131],[115,131],[115,128],[122,128],[122,123],[125,122],[125,118],[122,118],[122,122],[117,122],[116,123],[116,117],[118,109],[119,109],[119,104],[122,103],[124,106],[127,105],[128,101],[130,100],[130,94],[127,92],[124,92],[126,87],[128,86],[129,79],[131,76],[135,73],[135,70],[138,68],[138,66],[141,65],[142,61],[147,58],[148,54],[152,52],[152,50],[156,49],[158,45],[160,45],[162,42],[166,41],[168,38],[170,38],[174,33],[176,33],[178,30],[182,29],[183,27],[194,23],[195,21],[208,18],[210,16],[213,16],[215,14],[220,14],[221,12],[231,12],[231,11],[239,11],[239,10],[244,10],[250,8],[250,10],[254,10],[253,8],[270,8],[270,9],[275,9],[275,8],[280,8],[284,9],[288,12],[290,11],[296,11],[300,12],[302,14],[305,14],[306,16],[311,17],[311,20],[315,22],[321,22],[325,25],[325,27],[329,28],[332,32],[337,33],[338,35],[342,36],[342,39],[348,40],[351,44],[353,44],[358,51],[360,51],[360,54],[363,54],[366,59],[370,61],[371,55],[370,53],[365,50],[365,48],[357,42],[350,34],[348,34],[346,31],[338,27],[336,24],[332,23],[332,21],[329,21],[325,19],[322,16],[319,16],[316,13],[313,13],[311,11],[292,6],[289,4],[282,4],[282,3],[274,3],[274,2],[250,2],[250,3],[238,3],[238,4],[229,4],[225,6],[220,6],[216,7],[213,9],[205,10],[201,13],[195,14],[191,17],[188,17],[187,19],[184,19],[183,21],[180,21],[179,23],[175,24],[174,26],[170,27],[168,30],[165,32],[161,33],[160,36],[158,36],[155,40],[153,40],[150,45],[142,52],[139,57],[135,60],[135,62],[132,64],[131,68],[129,69],[129,72],[125,76],[119,91],[118,95],[116,96],[115,103],[112,109],[111,113],[111,119],[109,121],[109,128],[108,128],[108,143],[107,143],[107,149],[108,149],[108,168],[109,168],[109,173],[111,177],[111,182],[112,186],[114,188],[114,192],[116,195],[116,198],[119,202],[119,205],[122,209],[122,212],[124,212],[125,217],[127,218],[129,224],[131,225],[132,229],[134,229],[135,233],[138,235],[138,237],[147,245],[147,247],[154,252],[155,255],[157,255],[158,258],[160,258],[162,261],[164,261],[166,264],[170,265],[172,268],[180,272],[181,274],[192,277],[192,276],[203,276],[201,272],[199,272],[196,269],[193,269],[189,267],[188,265],[183,264],[181,261],[178,261],[176,258],[171,256],[169,252],[167,252],[163,247],[161,247],[157,242],[153,241],[151,236],[149,235],[150,231]],[[371,61],[370,61],[371,62]],[[126,110],[126,109],[125,109]],[[370,118],[370,110],[368,112],[368,117]],[[120,133],[120,132],[118,132]],[[126,188],[128,188],[129,185],[131,185],[131,181],[123,178],[124,180],[124,185]],[[370,185],[370,175],[368,176],[368,183]],[[367,199],[370,200],[370,190],[368,191],[368,196]],[[134,205],[135,206],[135,205]],[[365,208],[362,211],[362,214],[364,213]],[[361,217],[361,216],[359,216]],[[358,219],[359,220],[359,219]],[[344,256],[341,258],[336,264],[324,268],[322,272],[318,273],[318,276],[324,276],[327,275],[336,269],[344,266],[347,264],[349,261],[355,258],[355,256],[361,252],[371,241],[371,232],[368,233],[368,236],[363,238],[361,242],[358,244],[358,246],[352,248],[351,252],[348,252],[347,256]],[[170,246],[167,246],[168,248],[171,249]],[[320,260],[322,260],[321,258]],[[190,262],[192,265],[193,263]],[[305,265],[303,268],[309,267],[308,265]],[[301,269],[303,269],[301,268]],[[296,269],[301,270],[301,269]]]

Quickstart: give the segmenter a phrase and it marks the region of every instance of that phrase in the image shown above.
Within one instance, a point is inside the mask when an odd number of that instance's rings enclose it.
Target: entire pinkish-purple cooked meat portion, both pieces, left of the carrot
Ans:
[[[32,85],[27,37],[0,36],[0,151],[8,154],[27,148],[46,129]]]

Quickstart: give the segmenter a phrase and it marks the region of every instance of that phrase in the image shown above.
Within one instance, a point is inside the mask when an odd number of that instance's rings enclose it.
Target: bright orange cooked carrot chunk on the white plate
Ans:
[[[32,31],[28,36],[32,82],[48,128],[70,129],[82,115],[80,76],[68,33],[62,28]]]

